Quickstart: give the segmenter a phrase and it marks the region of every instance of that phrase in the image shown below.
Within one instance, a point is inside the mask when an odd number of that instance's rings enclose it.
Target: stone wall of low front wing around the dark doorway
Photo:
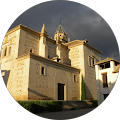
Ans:
[[[45,68],[45,75],[41,74],[41,67]],[[77,75],[77,82],[73,75]],[[28,99],[58,100],[58,83],[65,84],[65,100],[79,100],[79,73],[46,63],[30,59]]]

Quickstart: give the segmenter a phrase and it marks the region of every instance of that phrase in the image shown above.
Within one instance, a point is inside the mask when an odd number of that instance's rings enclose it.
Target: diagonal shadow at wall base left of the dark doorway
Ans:
[[[53,98],[50,98],[50,97],[48,97],[46,95],[43,95],[43,94],[41,94],[39,92],[36,92],[35,90],[32,90],[30,88],[28,88],[28,91],[34,94],[33,96],[30,96],[28,98],[29,100],[37,100],[37,98],[38,98],[38,100],[53,100]],[[29,96],[29,93],[28,93],[28,96]]]

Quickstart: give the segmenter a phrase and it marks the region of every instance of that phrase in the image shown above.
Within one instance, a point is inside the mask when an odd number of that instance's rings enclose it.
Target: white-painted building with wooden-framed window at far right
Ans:
[[[100,105],[112,91],[117,80],[120,61],[106,58],[95,65],[98,105]]]

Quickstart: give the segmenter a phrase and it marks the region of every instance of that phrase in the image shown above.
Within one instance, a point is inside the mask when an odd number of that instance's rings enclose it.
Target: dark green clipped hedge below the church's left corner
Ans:
[[[17,101],[24,109],[30,113],[36,114],[42,111],[61,111],[62,102],[61,101]]]

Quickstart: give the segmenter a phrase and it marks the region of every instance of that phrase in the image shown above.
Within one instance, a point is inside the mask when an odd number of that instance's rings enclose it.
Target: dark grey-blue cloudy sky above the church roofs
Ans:
[[[9,29],[23,24],[40,32],[43,23],[49,37],[53,37],[60,24],[70,40],[87,39],[89,44],[102,51],[102,59],[119,60],[119,49],[114,33],[107,22],[92,8],[71,1],[49,1],[37,4],[22,13]]]

